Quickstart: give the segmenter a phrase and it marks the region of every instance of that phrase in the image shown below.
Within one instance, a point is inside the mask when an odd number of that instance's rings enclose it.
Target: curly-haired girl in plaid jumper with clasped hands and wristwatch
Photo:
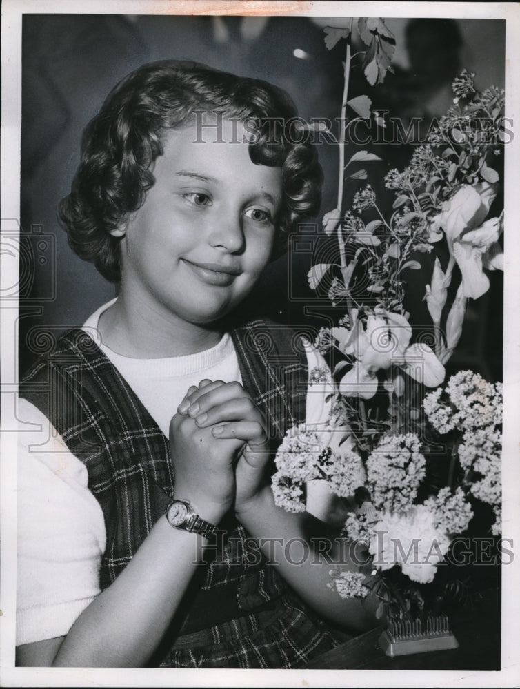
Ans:
[[[166,61],[88,125],[60,215],[119,295],[21,384],[42,430],[20,434],[18,664],[291,668],[342,638],[322,616],[372,624],[324,557],[287,557],[310,517],[268,485],[287,429],[327,420],[324,362],[230,320],[318,209],[295,116],[272,85]]]

